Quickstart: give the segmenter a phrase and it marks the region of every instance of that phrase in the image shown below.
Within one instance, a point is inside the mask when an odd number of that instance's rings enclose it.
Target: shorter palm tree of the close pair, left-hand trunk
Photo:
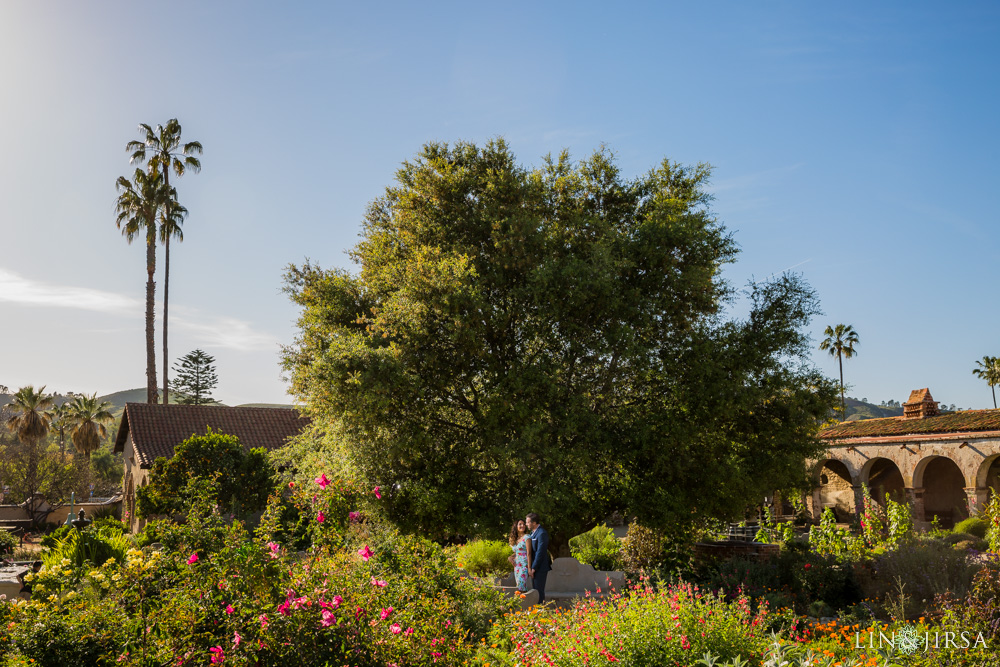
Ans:
[[[136,169],[132,180],[119,176],[116,183],[118,201],[115,224],[122,230],[125,240],[132,243],[140,234],[146,236],[146,402],[158,403],[156,387],[156,343],[153,338],[153,297],[156,283],[156,220],[164,202],[175,196],[160,176],[152,169]]]

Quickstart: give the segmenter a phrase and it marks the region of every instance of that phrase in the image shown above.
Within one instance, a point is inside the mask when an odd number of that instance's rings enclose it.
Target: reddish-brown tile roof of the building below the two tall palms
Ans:
[[[287,408],[230,408],[221,405],[157,405],[126,403],[115,452],[125,451],[131,435],[135,460],[149,468],[157,457],[171,457],[174,447],[194,434],[213,431],[235,435],[246,448],[277,449],[309,424]]]

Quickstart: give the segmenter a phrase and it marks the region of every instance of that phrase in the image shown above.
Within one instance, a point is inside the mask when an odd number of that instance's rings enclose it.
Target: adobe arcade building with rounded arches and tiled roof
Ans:
[[[846,521],[862,507],[862,485],[877,500],[909,501],[918,526],[944,527],[977,514],[1000,492],[1000,410],[938,412],[928,389],[910,393],[903,416],[841,422],[823,429],[826,457],[812,462],[815,519],[830,507]]]

